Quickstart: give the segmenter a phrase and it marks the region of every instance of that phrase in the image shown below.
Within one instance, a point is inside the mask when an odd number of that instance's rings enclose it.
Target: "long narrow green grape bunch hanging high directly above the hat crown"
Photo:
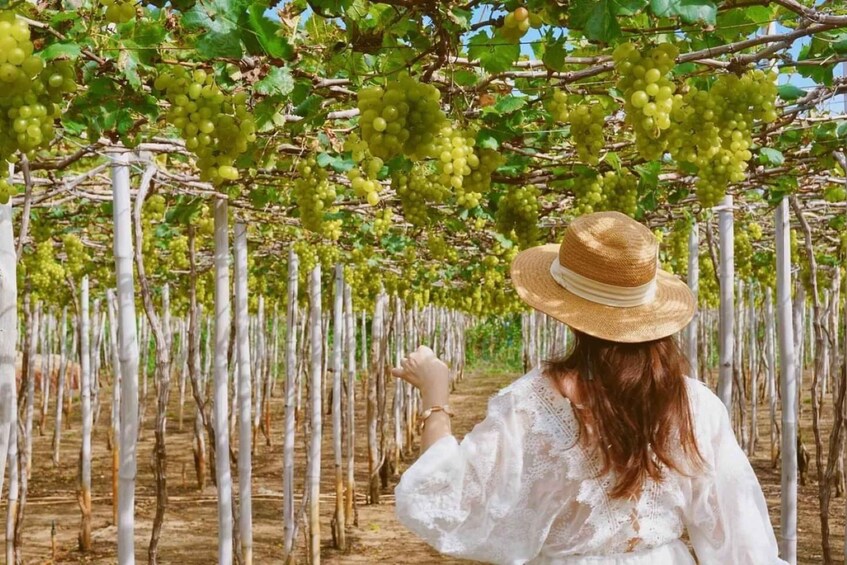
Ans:
[[[665,151],[662,132],[671,127],[676,85],[668,74],[679,50],[662,43],[641,53],[632,43],[623,43],[613,55],[623,93],[626,122],[635,132],[636,148],[648,160],[659,159]]]

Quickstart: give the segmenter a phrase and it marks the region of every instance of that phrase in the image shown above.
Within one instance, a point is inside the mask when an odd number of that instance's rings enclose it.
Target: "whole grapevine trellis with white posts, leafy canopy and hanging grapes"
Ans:
[[[7,562],[27,550],[33,437],[52,436],[59,468],[69,425],[81,429],[79,547],[98,543],[92,430],[104,418],[118,562],[141,547],[159,560],[175,433],[191,434],[198,490],[216,489],[224,564],[254,559],[253,458],[278,443],[280,553],[320,561],[331,434],[331,536],[344,550],[357,505],[380,503],[414,450],[419,398],[388,368],[426,343],[459,382],[467,331],[517,312],[526,368],[563,351],[567,330],[522,311],[508,267],[599,210],[653,229],[662,265],[698,295],[680,336],[690,374],[716,390],[751,456],[767,413],[783,557],[797,559],[799,479],[817,483],[822,556],[834,560],[847,416],[843,6],[6,4]],[[151,431],[142,546],[138,441]]]

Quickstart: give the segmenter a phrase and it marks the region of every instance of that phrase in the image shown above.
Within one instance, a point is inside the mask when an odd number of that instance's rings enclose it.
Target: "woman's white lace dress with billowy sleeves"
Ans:
[[[612,477],[577,443],[570,401],[541,371],[500,391],[461,443],[446,436],[397,485],[397,517],[438,551],[489,563],[776,565],[761,487],[726,409],[688,379],[696,477],[668,473],[638,500],[612,500]]]

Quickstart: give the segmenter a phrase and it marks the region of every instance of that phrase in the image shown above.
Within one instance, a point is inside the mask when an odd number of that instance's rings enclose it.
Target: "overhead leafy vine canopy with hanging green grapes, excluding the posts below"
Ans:
[[[0,158],[13,176],[0,188],[15,193],[24,225],[20,278],[51,300],[66,293],[56,276],[114,285],[109,165],[127,150],[133,186],[147,194],[147,272],[184,277],[196,228],[207,238],[206,303],[220,197],[248,223],[251,288],[279,299],[294,242],[301,273],[318,259],[348,263],[360,305],[381,284],[418,301],[510,310],[517,249],[603,207],[662,234],[663,263],[682,274],[691,219],[707,225],[703,259],[715,256],[711,207],[724,190],[747,240],[736,243],[739,276],[772,284],[773,204],[789,193],[818,263],[836,266],[847,5],[814,4],[8,4]],[[16,47],[28,41],[43,71]],[[710,267],[701,300],[715,299]]]

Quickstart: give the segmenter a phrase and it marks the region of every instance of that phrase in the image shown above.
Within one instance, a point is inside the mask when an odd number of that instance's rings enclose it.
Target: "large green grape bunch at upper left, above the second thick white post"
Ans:
[[[247,93],[228,94],[202,69],[172,66],[153,86],[171,105],[167,120],[198,159],[200,178],[215,185],[239,177],[235,161],[256,140],[256,124],[247,108]]]

